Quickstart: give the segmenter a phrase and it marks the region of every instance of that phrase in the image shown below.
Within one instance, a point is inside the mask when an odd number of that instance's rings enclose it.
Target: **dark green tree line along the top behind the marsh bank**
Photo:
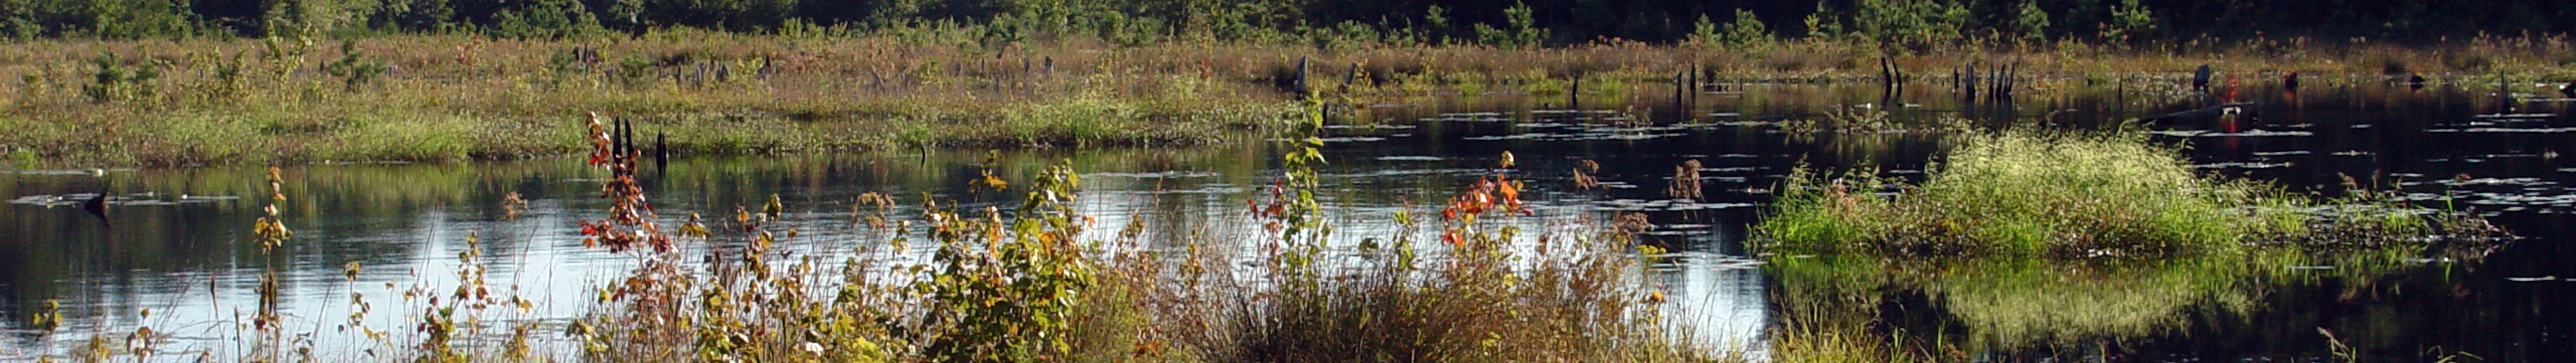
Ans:
[[[989,39],[1582,44],[1834,39],[1981,41],[2545,36],[2568,0],[0,0],[0,36],[276,33],[585,36],[981,28]]]

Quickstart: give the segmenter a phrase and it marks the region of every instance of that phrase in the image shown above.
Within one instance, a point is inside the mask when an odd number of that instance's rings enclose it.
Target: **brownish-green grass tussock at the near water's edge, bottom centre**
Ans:
[[[1685,360],[1651,324],[1646,293],[1615,247],[1553,245],[1571,257],[1448,250],[1427,268],[1376,265],[1288,275],[1224,317],[1213,360]],[[1381,252],[1396,257],[1396,252]]]

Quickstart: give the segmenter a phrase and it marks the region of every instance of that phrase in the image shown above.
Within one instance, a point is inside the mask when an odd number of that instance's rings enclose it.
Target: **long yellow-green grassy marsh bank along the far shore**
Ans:
[[[866,36],[649,31],[600,39],[368,36],[348,41],[21,41],[0,57],[0,162],[219,165],[510,160],[574,154],[574,116],[641,121],[688,154],[899,147],[1097,147],[1226,142],[1291,118],[1298,62],[1337,103],[1481,93],[1659,90],[1710,82],[1914,82],[2017,64],[2030,90],[2179,85],[2184,70],[2311,85],[2383,75],[2568,80],[2563,39],[2452,46],[2233,41],[2164,46],[1960,44],[1886,54],[1834,41],[1553,49],[1376,41],[1172,41],[1082,36],[987,44],[974,28]],[[1571,82],[1582,77],[1584,82]],[[1252,136],[1247,136],[1252,139]]]

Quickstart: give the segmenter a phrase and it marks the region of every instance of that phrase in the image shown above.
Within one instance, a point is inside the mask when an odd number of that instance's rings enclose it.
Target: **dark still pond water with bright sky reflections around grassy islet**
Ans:
[[[1564,227],[1643,211],[1649,239],[1682,250],[1651,283],[1667,312],[1728,350],[1765,355],[1783,317],[1857,317],[1883,335],[1942,342],[1965,360],[2571,360],[2576,355],[2576,111],[2488,88],[2308,88],[2306,95],[2246,90],[2236,116],[2156,121],[2161,142],[2190,147],[2210,172],[2275,180],[2293,191],[2342,193],[2344,175],[2406,191],[2419,206],[2468,209],[2527,237],[2486,257],[2182,257],[2156,263],[1965,263],[1893,270],[1832,255],[1747,255],[1741,242],[1770,188],[1798,165],[1878,167],[1911,178],[1950,144],[1929,131],[1788,134],[1790,118],[1826,113],[1891,124],[1963,116],[1984,126],[2102,129],[2200,106],[2192,95],[2141,95],[2074,85],[2025,90],[2009,106],[1963,103],[1932,85],[1878,88],[1723,85],[1692,103],[1638,93],[1625,100],[1461,95],[1345,111],[1329,129],[1321,167],[1337,237],[1404,234],[1391,219],[1437,214],[1437,201],[1502,152],[1530,183],[1538,211],[1515,224]],[[2537,85],[2532,90],[2540,90]],[[2561,116],[2566,113],[2566,116]],[[1079,209],[1108,234],[1139,224],[1151,247],[1234,247],[1262,234],[1247,198],[1275,180],[1280,149],[1265,142],[1175,149],[1002,152],[994,175],[1025,180],[1054,162],[1082,172]],[[984,152],[873,152],[788,157],[683,157],[647,167],[665,219],[729,216],[786,201],[786,227],[814,255],[848,255],[853,201],[886,193],[896,209],[920,196],[1012,203],[976,193]],[[1574,188],[1582,160],[1602,167],[1602,191]],[[1669,198],[1674,165],[1700,162],[1705,198]],[[533,304],[518,322],[562,332],[598,301],[595,286],[636,265],[634,255],[582,247],[574,221],[598,219],[603,172],[580,160],[456,165],[283,167],[283,214],[296,237],[263,260],[250,224],[268,201],[263,167],[198,170],[13,170],[0,172],[0,358],[77,350],[93,335],[152,327],[173,340],[162,358],[232,358],[247,350],[260,270],[276,265],[294,340],[322,358],[402,350],[420,301],[459,283],[459,255],[482,250],[495,293]],[[108,214],[77,201],[108,193]],[[505,219],[518,193],[528,211]],[[896,211],[907,216],[907,211]],[[781,227],[781,229],[786,229]],[[469,245],[469,239],[474,239]],[[886,257],[920,257],[909,245]],[[1770,263],[1762,263],[1770,260]],[[350,263],[355,278],[345,275]],[[355,296],[355,299],[353,299]],[[31,317],[59,304],[62,330]],[[384,330],[384,340],[358,322]],[[497,332],[495,332],[497,335]],[[556,337],[556,335],[549,335]],[[374,350],[374,353],[371,353]],[[538,348],[569,355],[564,342]]]

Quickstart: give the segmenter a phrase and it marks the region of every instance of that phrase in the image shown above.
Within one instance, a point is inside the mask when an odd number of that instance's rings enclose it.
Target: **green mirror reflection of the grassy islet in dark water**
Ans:
[[[2190,332],[2264,312],[2280,291],[2378,286],[2414,263],[2414,247],[2249,250],[2123,260],[1780,257],[1772,358],[1783,363],[1968,360],[2032,355]],[[2458,255],[2470,257],[2470,255]],[[2334,265],[2329,270],[2287,265]],[[1883,309],[1888,304],[1924,309]],[[1927,330],[1922,317],[1937,317]]]

